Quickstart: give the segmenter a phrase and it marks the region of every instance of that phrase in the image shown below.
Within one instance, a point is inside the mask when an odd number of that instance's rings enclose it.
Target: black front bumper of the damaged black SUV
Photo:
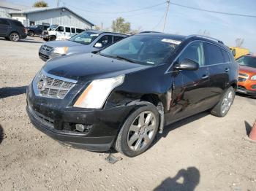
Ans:
[[[28,87],[27,91],[31,88]],[[118,130],[136,106],[110,109],[77,109],[59,106],[64,100],[41,98],[27,93],[26,111],[32,124],[63,144],[91,151],[107,151],[113,146]],[[86,133],[75,130],[75,124],[89,128]]]

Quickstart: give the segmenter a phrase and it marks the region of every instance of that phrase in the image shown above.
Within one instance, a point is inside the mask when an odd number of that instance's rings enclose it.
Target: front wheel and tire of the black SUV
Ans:
[[[153,104],[143,101],[124,122],[116,139],[116,151],[128,157],[145,152],[154,140],[159,127],[159,112]]]

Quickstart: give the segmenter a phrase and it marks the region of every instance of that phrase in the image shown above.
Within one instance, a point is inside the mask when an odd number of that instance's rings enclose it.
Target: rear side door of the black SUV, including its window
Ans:
[[[206,66],[210,73],[211,104],[217,104],[229,83],[230,58],[227,51],[215,44],[204,42]]]

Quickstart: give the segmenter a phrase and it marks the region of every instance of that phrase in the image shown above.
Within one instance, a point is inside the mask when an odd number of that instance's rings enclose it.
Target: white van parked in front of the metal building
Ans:
[[[42,33],[41,37],[45,41],[65,40],[70,39],[75,34],[81,33],[83,31],[85,30],[73,26],[52,25],[47,29],[47,31]]]

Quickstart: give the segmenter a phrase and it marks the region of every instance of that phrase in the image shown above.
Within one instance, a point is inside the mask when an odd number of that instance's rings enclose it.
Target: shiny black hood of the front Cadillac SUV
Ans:
[[[152,66],[130,63],[92,53],[73,54],[53,58],[45,63],[43,69],[48,74],[75,79],[84,84],[93,79],[116,77]]]

